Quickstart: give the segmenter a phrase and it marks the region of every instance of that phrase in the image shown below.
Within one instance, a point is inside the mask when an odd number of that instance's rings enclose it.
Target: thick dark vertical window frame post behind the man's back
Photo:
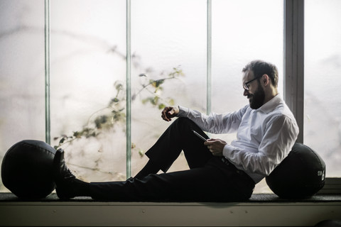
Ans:
[[[284,100],[296,118],[303,143],[304,0],[284,0]]]

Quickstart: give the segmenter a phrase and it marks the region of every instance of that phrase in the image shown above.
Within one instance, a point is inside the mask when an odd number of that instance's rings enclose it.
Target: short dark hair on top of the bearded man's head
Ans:
[[[270,77],[272,84],[274,84],[275,87],[278,86],[278,70],[276,65],[262,60],[254,60],[245,65],[242,72],[247,72],[249,70],[254,72],[254,78],[267,74]]]

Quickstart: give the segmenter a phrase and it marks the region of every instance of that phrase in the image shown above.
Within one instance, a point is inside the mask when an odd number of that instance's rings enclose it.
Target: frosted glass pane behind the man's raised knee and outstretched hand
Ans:
[[[144,152],[170,125],[161,119],[163,104],[205,111],[206,5],[204,0],[131,1],[133,175],[147,160]],[[163,83],[150,84],[158,79]],[[185,168],[180,157],[169,171]]]

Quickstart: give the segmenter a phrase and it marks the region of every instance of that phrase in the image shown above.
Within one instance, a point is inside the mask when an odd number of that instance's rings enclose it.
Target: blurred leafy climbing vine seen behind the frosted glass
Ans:
[[[179,67],[174,67],[173,70],[161,79],[149,78],[146,74],[139,74],[139,77],[145,77],[144,82],[141,82],[138,92],[132,94],[131,101],[136,101],[136,97],[143,92],[147,93],[146,98],[140,99],[142,104],[151,104],[154,108],[163,109],[165,106],[174,105],[174,100],[171,97],[163,97],[163,85],[171,80],[178,79],[184,76],[183,70]],[[95,111],[88,119],[85,126],[80,130],[73,131],[71,135],[60,135],[53,138],[58,141],[58,145],[54,148],[58,149],[67,143],[72,143],[80,138],[97,137],[100,133],[105,133],[110,129],[114,129],[121,123],[126,122],[126,96],[124,83],[117,81],[114,83],[116,90],[115,96],[109,100],[108,105],[104,108]],[[102,114],[101,114],[102,113]],[[136,148],[133,143],[132,148]],[[141,155],[141,152],[139,152]]]

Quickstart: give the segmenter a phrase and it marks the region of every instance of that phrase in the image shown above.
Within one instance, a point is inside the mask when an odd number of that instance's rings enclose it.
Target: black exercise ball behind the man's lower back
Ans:
[[[289,155],[266,177],[272,192],[283,199],[306,199],[325,185],[325,162],[314,150],[295,143]]]

